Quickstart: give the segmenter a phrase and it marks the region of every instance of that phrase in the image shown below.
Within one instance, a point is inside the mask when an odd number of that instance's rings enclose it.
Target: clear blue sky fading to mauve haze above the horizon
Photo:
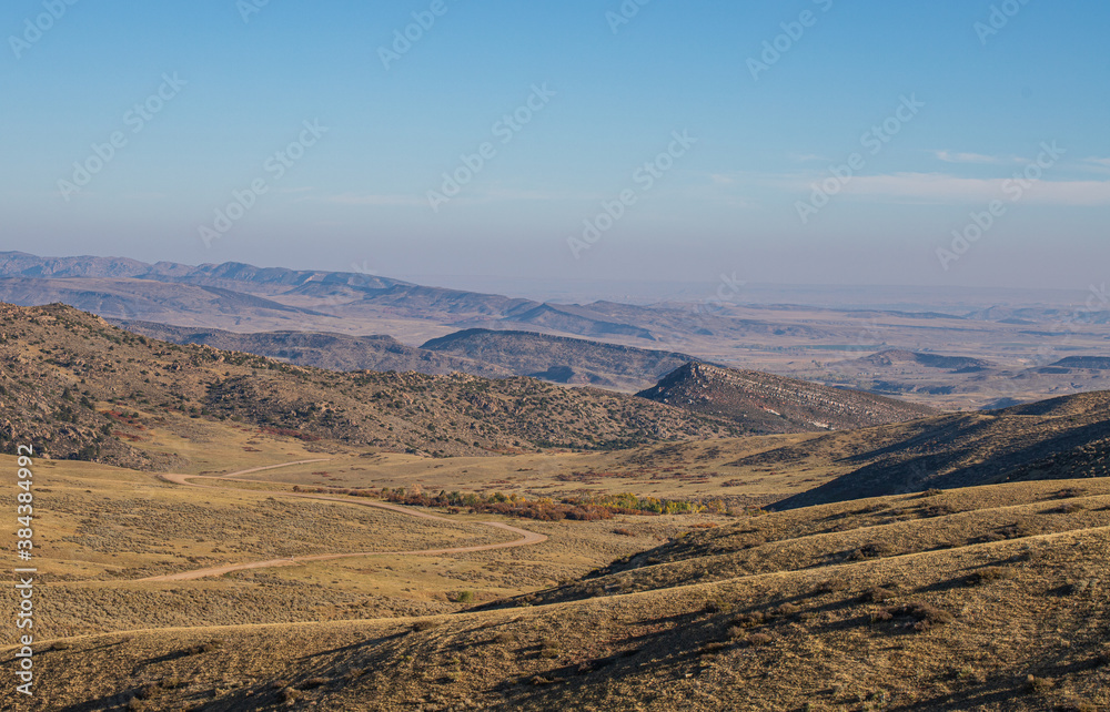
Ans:
[[[1108,30],[1101,0],[9,0],[0,250],[1086,289]]]

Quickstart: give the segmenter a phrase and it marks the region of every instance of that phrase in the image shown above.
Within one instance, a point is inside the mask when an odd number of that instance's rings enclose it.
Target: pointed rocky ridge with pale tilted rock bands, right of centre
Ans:
[[[693,363],[642,398],[730,418],[754,434],[844,430],[935,415],[925,406],[753,370]]]

